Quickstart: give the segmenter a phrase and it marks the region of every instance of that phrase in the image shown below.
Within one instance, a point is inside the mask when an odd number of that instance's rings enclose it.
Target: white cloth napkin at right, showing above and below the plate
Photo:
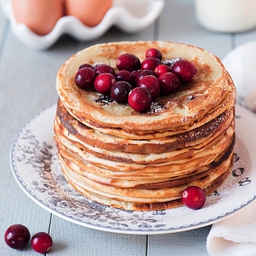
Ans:
[[[242,44],[224,57],[237,101],[256,112],[256,42]],[[207,236],[211,256],[256,256],[256,201],[213,224]]]

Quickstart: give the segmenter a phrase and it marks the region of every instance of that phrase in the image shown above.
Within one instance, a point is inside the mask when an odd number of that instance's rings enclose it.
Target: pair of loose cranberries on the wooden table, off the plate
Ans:
[[[26,226],[13,224],[5,231],[4,241],[13,249],[22,249],[30,241],[31,234]],[[47,253],[52,247],[53,241],[49,234],[38,232],[31,239],[31,246],[37,253]]]

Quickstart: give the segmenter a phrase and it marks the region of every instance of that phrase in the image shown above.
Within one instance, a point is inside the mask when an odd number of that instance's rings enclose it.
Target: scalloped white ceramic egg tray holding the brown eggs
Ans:
[[[118,26],[124,32],[138,32],[156,20],[164,8],[164,0],[114,0],[102,21],[94,27],[84,24],[74,16],[63,16],[54,29],[45,36],[38,36],[26,25],[17,24],[11,0],[1,0],[4,14],[10,21],[15,36],[23,44],[34,49],[47,49],[61,37],[68,34],[80,41],[100,38],[111,26]]]

